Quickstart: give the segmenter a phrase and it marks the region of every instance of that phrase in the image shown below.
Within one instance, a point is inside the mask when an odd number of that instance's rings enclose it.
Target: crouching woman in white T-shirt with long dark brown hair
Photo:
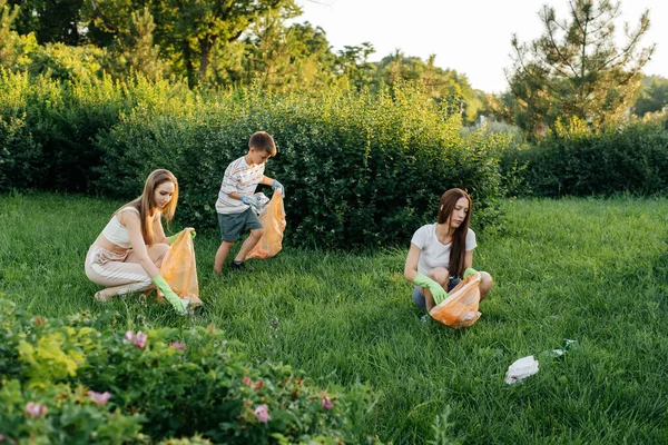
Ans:
[[[413,301],[431,310],[434,296],[442,300],[473,264],[475,234],[469,228],[471,198],[459,188],[441,196],[439,221],[420,227],[411,240],[404,277],[415,284]],[[492,277],[481,271],[480,300],[492,288]]]

